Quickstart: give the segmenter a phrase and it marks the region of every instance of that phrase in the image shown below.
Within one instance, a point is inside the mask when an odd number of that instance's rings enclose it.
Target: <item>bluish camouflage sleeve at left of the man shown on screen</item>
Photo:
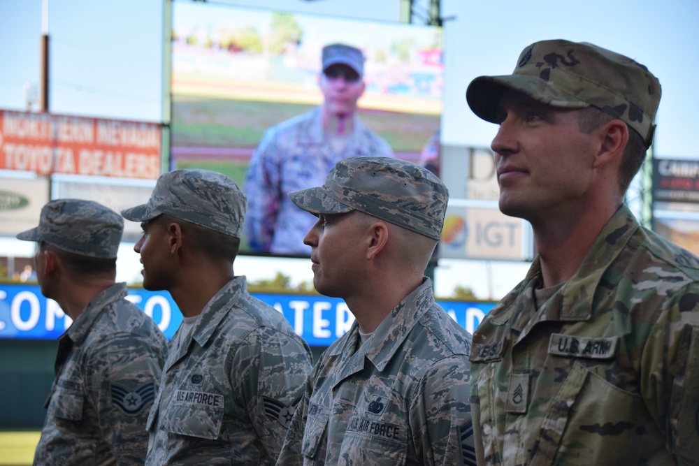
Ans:
[[[281,203],[279,168],[276,161],[278,149],[275,133],[267,131],[252,154],[245,177],[245,235],[250,249],[269,251],[277,224],[277,212]]]

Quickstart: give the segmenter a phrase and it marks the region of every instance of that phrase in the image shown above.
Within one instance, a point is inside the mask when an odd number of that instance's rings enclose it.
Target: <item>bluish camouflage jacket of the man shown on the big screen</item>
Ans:
[[[354,117],[343,152],[323,131],[321,108],[268,129],[252,155],[245,180],[245,234],[250,248],[310,256],[303,237],[317,220],[289,201],[289,192],[322,186],[335,164],[352,156],[392,157],[391,147]]]

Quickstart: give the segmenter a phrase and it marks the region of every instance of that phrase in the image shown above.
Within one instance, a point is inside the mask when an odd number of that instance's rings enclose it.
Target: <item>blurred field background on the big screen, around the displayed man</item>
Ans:
[[[332,43],[366,57],[361,122],[419,163],[440,127],[441,28],[175,1],[170,168],[208,168],[245,189],[264,132],[322,103],[322,48]],[[270,254],[245,236],[240,252]]]

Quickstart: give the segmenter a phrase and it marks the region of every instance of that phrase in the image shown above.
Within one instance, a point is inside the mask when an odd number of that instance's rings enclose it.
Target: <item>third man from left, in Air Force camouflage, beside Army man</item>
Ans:
[[[415,163],[352,157],[289,197],[318,217],[304,238],[315,288],[356,321],[315,365],[277,464],[475,465],[471,335],[424,277],[445,185]]]

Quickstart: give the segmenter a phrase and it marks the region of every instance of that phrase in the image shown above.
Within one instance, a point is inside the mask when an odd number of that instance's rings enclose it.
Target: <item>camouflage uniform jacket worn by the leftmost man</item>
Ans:
[[[125,296],[110,286],[59,338],[35,465],[143,465],[167,340]]]

